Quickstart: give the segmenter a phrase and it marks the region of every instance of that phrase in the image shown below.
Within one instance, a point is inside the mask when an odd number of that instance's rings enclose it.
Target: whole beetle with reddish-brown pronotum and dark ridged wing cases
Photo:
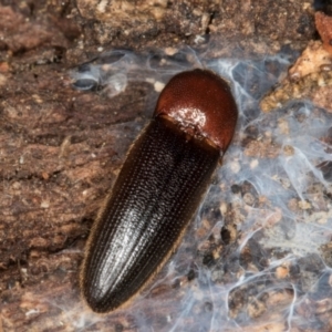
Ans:
[[[177,248],[234,136],[238,112],[212,72],[174,76],[93,225],[81,273],[95,312],[126,304]]]

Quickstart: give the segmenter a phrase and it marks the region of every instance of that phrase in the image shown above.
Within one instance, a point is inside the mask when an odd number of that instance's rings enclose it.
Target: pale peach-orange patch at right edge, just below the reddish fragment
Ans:
[[[331,65],[331,54],[324,49],[321,41],[310,41],[301,56],[289,70],[291,81],[298,81],[311,73],[320,72],[322,66]]]

